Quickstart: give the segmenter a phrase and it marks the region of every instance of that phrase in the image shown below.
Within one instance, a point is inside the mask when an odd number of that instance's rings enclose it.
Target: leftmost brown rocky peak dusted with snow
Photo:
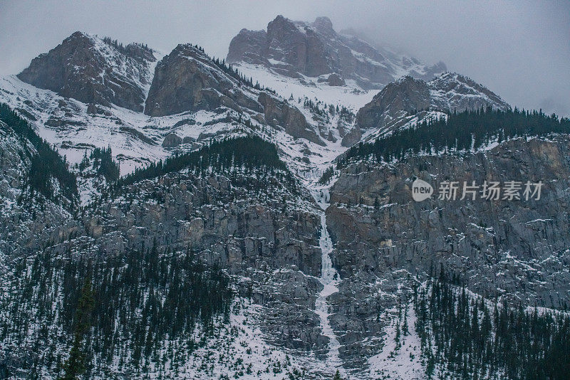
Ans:
[[[76,32],[34,58],[18,78],[81,102],[142,111],[155,60],[153,51],[142,45],[123,47]]]

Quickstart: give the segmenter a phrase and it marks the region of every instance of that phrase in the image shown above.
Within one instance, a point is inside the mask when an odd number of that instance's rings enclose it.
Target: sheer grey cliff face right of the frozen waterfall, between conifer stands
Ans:
[[[397,302],[395,289],[410,275],[445,273],[489,299],[570,305],[564,270],[570,263],[569,149],[567,136],[515,139],[476,154],[344,169],[326,214],[336,242],[333,263],[347,279],[333,300],[331,318],[339,332],[354,331],[340,335],[345,354],[366,352],[359,341],[378,329],[377,310]],[[432,184],[435,196],[413,201],[415,178]],[[436,184],[446,180],[461,186],[463,181],[544,186],[539,200],[459,200],[461,190],[456,201],[439,200]]]

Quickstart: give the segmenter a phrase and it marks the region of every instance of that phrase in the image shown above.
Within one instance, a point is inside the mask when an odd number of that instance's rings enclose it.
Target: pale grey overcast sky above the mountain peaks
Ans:
[[[277,14],[436,63],[486,85],[512,105],[570,116],[570,1],[5,1],[0,0],[0,75],[19,73],[73,31],[148,43],[165,53],[198,43],[224,57],[240,29]]]

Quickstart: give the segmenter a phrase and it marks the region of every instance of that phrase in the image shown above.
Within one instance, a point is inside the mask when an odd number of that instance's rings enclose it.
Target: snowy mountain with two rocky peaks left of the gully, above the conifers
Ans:
[[[252,133],[274,140],[305,169],[336,155],[338,116],[325,120],[253,85],[197,46],[177,46],[152,63],[155,51],[109,41],[73,33],[19,75],[0,80],[0,101],[33,122],[72,164],[86,149],[110,146],[125,174],[212,137]],[[148,55],[132,58],[138,48]]]

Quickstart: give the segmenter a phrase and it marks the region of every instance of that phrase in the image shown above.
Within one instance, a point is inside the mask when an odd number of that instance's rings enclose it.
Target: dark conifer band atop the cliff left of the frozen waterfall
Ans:
[[[160,160],[143,169],[137,169],[133,174],[120,179],[118,185],[133,184],[142,179],[152,179],[182,169],[195,171],[198,174],[242,169],[252,172],[259,169],[271,174],[279,172],[290,184],[294,183],[293,176],[286,169],[284,162],[279,159],[275,145],[260,137],[248,136],[222,141],[212,140],[195,152],[169,157],[164,162]]]

